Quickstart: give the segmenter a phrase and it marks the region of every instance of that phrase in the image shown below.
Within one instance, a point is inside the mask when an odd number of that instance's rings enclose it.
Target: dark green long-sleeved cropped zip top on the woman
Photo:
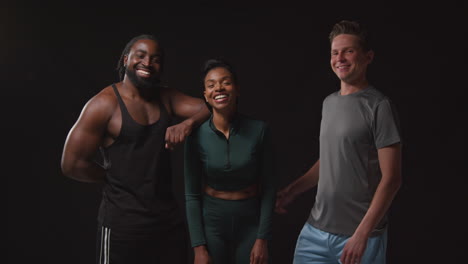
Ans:
[[[268,126],[237,114],[226,139],[212,118],[194,130],[185,142],[185,201],[192,247],[206,244],[201,209],[205,184],[218,191],[241,190],[258,184],[261,205],[257,238],[270,239],[276,177]]]

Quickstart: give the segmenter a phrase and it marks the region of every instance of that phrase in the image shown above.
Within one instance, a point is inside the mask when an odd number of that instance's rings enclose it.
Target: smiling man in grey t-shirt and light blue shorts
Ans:
[[[341,85],[323,101],[320,158],[278,193],[276,212],[318,185],[294,263],[385,263],[387,211],[401,185],[399,122],[391,101],[367,81],[374,52],[365,30],[341,21],[329,38]]]

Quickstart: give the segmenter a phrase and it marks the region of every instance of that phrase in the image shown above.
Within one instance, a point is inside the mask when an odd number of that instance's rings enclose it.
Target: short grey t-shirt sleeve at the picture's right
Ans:
[[[381,101],[374,111],[373,133],[377,149],[402,142],[398,114],[388,99]]]

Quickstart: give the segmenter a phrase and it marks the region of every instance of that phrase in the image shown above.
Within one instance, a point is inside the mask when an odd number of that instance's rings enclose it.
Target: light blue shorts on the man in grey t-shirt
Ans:
[[[305,223],[294,251],[294,264],[339,264],[343,248],[350,236],[335,235]],[[385,264],[387,230],[367,240],[361,264]]]

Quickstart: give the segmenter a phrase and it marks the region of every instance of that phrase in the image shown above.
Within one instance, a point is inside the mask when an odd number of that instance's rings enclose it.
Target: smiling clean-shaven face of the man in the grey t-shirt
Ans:
[[[372,51],[364,51],[358,36],[340,34],[331,44],[330,65],[338,78],[347,84],[366,80],[366,70],[373,59]]]

